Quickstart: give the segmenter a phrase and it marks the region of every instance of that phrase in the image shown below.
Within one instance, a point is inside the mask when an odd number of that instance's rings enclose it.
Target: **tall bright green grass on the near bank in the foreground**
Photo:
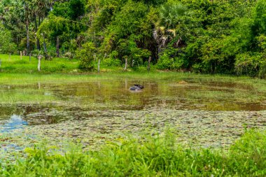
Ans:
[[[25,160],[2,167],[1,176],[265,176],[266,132],[251,130],[228,151],[183,148],[176,136],[123,140],[102,150],[64,155],[27,149]]]

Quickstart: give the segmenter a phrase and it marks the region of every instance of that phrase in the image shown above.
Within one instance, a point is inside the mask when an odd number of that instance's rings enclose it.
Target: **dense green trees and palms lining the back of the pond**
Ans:
[[[151,57],[157,69],[263,78],[265,6],[265,0],[3,0],[0,52],[73,58],[90,45],[94,59],[114,65],[127,59],[135,68]],[[10,41],[17,47],[7,50]]]

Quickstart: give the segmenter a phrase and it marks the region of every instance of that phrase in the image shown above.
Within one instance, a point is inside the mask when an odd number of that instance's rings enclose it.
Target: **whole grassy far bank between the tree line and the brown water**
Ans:
[[[150,72],[146,70],[145,66],[140,66],[137,69],[129,69],[127,72],[123,71],[122,67],[113,67],[101,65],[101,73],[92,71],[89,73],[80,71],[78,69],[77,59],[55,58],[52,60],[41,60],[41,71],[37,69],[38,60],[36,57],[23,56],[20,59],[18,55],[0,55],[0,83],[29,83],[29,82],[53,82],[55,80],[69,82],[78,82],[80,80],[95,79],[111,79],[111,78],[142,78],[142,79],[158,79],[158,80],[209,80],[221,82],[242,82],[250,83],[248,77],[237,76],[223,76],[223,75],[208,75],[195,73],[177,73],[174,71],[157,71],[153,67]],[[95,64],[95,68],[97,68]],[[260,82],[259,79],[258,82]]]

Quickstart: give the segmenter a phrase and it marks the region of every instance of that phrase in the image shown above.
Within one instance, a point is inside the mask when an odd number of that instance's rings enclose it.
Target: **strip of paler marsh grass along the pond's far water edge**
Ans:
[[[23,66],[18,66],[19,69]],[[61,82],[80,82],[86,80],[109,80],[109,79],[144,79],[144,80],[191,80],[193,82],[200,81],[219,81],[223,82],[236,82],[236,83],[265,83],[264,80],[258,78],[249,77],[237,77],[229,75],[210,75],[210,74],[198,74],[198,73],[181,73],[174,71],[121,71],[114,69],[110,71],[102,71],[101,73],[76,73],[76,72],[52,72],[52,73],[27,73],[27,72],[0,72],[0,83],[13,83],[14,85],[20,83],[36,83],[37,82],[55,82],[57,80]]]

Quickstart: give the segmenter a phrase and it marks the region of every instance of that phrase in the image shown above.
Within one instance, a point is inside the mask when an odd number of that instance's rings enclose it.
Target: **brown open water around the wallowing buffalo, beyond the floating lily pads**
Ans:
[[[49,124],[83,116],[85,111],[151,108],[204,111],[263,111],[265,93],[250,85],[186,80],[180,84],[167,80],[97,80],[80,83],[36,83],[3,87],[0,92],[0,120],[22,115],[29,125]],[[130,92],[134,84],[143,92]],[[15,100],[15,104],[9,103]],[[31,104],[27,104],[30,102]],[[22,103],[22,104],[18,104]],[[72,111],[73,110],[73,111]],[[71,113],[69,113],[71,112]]]

